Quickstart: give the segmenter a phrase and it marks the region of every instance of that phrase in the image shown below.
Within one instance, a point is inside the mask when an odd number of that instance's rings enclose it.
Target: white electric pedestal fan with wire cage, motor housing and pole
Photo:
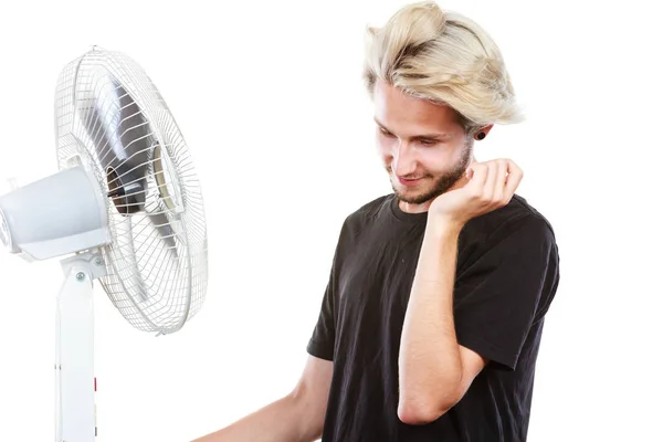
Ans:
[[[96,436],[93,282],[135,328],[179,330],[207,291],[203,199],[187,144],[144,70],[94,46],[55,93],[59,171],[0,197],[0,240],[60,257],[55,441]]]

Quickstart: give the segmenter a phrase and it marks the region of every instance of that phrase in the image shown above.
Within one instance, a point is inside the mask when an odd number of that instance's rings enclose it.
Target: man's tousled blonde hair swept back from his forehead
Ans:
[[[368,28],[364,81],[455,109],[465,130],[523,119],[499,49],[474,21],[432,1],[406,6]]]

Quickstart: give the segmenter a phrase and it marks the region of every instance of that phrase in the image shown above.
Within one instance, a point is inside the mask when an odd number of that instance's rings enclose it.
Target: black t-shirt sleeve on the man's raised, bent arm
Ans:
[[[554,233],[544,219],[530,215],[456,275],[459,344],[498,369],[514,370],[530,327],[551,302],[557,281]]]

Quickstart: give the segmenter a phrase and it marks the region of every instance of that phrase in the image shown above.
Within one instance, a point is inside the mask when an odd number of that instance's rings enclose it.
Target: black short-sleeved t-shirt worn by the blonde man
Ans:
[[[323,442],[520,442],[527,436],[544,315],[559,282],[552,229],[515,196],[459,238],[459,344],[490,359],[436,421],[398,418],[398,354],[427,213],[393,194],[344,222],[307,350],[334,361]]]

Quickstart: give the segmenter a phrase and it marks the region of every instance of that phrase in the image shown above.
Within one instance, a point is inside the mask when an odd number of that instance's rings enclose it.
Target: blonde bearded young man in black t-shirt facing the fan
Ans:
[[[519,117],[501,53],[434,3],[404,7],[368,43],[393,193],[346,219],[294,391],[199,442],[527,438],[559,257],[515,194],[518,166],[473,157]]]

